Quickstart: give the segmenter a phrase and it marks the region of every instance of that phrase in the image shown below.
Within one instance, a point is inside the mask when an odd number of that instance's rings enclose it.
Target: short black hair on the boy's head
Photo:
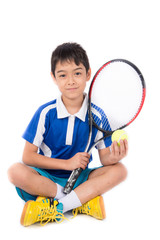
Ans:
[[[88,72],[90,65],[86,51],[77,43],[63,43],[59,45],[52,53],[51,57],[51,71],[55,76],[55,68],[58,62],[74,61],[78,66],[80,63],[86,68]]]

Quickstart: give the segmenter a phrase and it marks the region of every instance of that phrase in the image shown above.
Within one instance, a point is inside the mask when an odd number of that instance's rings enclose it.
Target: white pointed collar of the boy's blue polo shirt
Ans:
[[[82,107],[80,108],[79,112],[75,113],[73,116],[85,122],[87,105],[88,105],[88,96],[87,94],[85,94]],[[64,103],[62,102],[61,96],[59,96],[57,98],[57,118],[60,119],[60,118],[66,118],[70,116],[71,114],[67,111],[66,107],[64,106]]]

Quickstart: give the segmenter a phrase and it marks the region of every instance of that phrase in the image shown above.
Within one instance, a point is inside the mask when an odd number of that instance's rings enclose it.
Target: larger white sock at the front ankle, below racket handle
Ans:
[[[63,204],[63,213],[82,206],[77,194],[73,190],[58,202]]]

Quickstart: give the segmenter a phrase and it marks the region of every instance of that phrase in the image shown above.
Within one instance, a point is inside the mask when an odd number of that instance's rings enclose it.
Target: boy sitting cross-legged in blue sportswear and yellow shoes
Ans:
[[[116,142],[111,145],[110,138],[101,141],[97,149],[102,167],[89,169],[92,156],[84,152],[89,132],[84,89],[91,69],[85,50],[76,43],[58,46],[52,53],[51,76],[61,96],[37,110],[23,135],[23,163],[8,170],[10,181],[26,201],[21,224],[62,221],[72,209],[75,215],[83,212],[104,219],[101,195],[126,178],[119,161],[127,155],[128,143],[121,141],[119,147]],[[92,143],[98,130],[93,133]],[[83,171],[74,189],[64,194],[71,171],[79,167]]]

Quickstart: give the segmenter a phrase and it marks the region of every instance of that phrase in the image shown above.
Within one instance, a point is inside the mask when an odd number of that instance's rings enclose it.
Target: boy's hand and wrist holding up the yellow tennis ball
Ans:
[[[119,162],[122,158],[126,157],[128,153],[128,142],[127,140],[120,141],[120,147],[117,142],[113,142],[110,148],[99,150],[99,157],[102,165],[112,165]]]

